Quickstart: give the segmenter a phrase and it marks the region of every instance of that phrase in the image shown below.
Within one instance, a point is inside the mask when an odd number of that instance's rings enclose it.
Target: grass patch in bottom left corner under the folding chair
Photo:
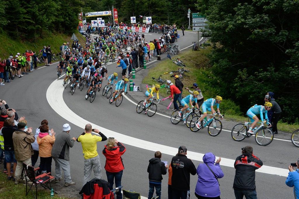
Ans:
[[[7,175],[2,172],[1,169],[0,172],[0,198],[5,199],[32,199],[33,195],[31,192],[28,193],[26,196],[26,186],[23,185],[23,183],[19,183],[18,185],[15,185],[12,180],[7,180]],[[35,187],[32,187],[35,194]],[[43,199],[50,199],[51,198],[51,192],[50,190],[45,190],[44,188],[38,188],[37,189],[38,198]],[[59,197],[56,194],[54,194],[54,197],[52,198],[60,198],[60,199],[70,199],[70,198],[64,198]]]

